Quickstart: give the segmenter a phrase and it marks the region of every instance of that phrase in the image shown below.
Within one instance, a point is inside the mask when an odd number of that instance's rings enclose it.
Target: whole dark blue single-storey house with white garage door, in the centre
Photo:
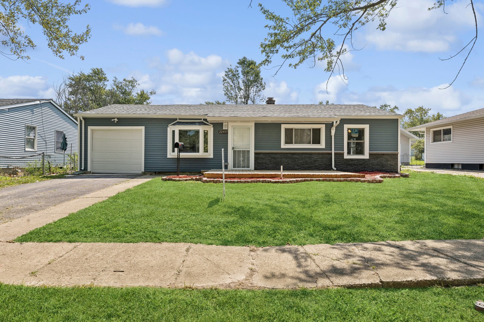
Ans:
[[[402,115],[366,105],[123,105],[76,114],[92,173],[331,170],[398,172]]]

